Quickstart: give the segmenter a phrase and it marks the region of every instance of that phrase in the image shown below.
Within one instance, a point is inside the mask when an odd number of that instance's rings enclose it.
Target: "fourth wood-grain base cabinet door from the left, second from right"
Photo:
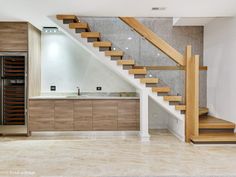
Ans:
[[[117,101],[93,101],[93,130],[117,130]]]

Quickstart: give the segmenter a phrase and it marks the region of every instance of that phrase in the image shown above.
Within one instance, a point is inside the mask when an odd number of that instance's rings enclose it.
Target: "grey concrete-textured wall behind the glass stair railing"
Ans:
[[[103,40],[113,43],[115,50],[125,51],[124,58],[135,59],[138,65],[175,66],[176,63],[147,40],[133,31],[119,18],[110,17],[80,17],[89,23],[92,31],[101,32]],[[185,47],[192,45],[193,54],[200,55],[200,65],[203,63],[203,27],[173,27],[172,18],[137,18],[162,39],[167,41],[180,53]],[[206,71],[200,72],[200,106],[206,106]],[[160,84],[170,86],[171,94],[185,97],[184,71],[149,71],[149,75],[160,79]]]

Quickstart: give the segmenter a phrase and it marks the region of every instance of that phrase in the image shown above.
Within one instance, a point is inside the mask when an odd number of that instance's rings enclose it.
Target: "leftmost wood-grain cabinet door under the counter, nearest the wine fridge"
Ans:
[[[30,131],[54,130],[53,100],[29,101],[29,130]]]

